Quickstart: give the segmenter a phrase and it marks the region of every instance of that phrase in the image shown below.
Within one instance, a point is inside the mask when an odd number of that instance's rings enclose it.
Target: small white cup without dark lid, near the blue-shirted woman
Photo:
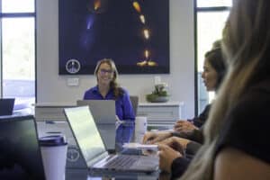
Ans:
[[[135,119],[135,142],[142,142],[143,136],[147,131],[148,120],[146,116],[137,116]]]

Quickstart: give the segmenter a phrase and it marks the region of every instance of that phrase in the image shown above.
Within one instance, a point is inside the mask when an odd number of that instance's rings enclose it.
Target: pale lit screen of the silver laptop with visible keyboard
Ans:
[[[65,114],[87,166],[92,166],[95,157],[102,155],[106,149],[89,107],[65,108]]]

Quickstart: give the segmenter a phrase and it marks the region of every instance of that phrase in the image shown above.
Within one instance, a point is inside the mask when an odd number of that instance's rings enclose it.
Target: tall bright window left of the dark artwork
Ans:
[[[0,0],[1,96],[14,110],[35,103],[35,0]]]

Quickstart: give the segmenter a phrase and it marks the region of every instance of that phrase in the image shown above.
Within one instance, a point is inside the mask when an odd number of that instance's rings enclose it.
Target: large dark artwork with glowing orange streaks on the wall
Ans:
[[[168,0],[58,0],[59,75],[169,73]]]

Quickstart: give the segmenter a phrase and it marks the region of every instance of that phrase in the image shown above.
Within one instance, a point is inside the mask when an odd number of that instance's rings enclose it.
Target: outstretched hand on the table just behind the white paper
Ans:
[[[155,143],[157,143],[161,140],[167,139],[171,136],[172,136],[171,132],[168,132],[168,131],[158,131],[158,132],[148,131],[143,136],[142,143],[143,144],[155,144]]]

